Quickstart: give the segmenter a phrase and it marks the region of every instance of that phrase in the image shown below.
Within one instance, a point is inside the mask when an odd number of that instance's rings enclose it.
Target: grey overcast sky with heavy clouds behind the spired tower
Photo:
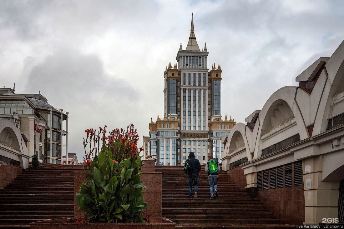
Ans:
[[[185,49],[191,12],[208,68],[221,63],[222,115],[237,122],[344,39],[343,1],[0,1],[1,85],[69,111],[69,152],[84,130],[163,117],[163,72]]]

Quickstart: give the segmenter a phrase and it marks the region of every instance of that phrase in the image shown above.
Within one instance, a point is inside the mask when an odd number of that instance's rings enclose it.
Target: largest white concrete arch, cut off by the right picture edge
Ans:
[[[313,136],[326,131],[328,119],[333,115],[333,101],[337,94],[344,92],[344,41],[326,62],[325,68],[328,77],[315,117]]]

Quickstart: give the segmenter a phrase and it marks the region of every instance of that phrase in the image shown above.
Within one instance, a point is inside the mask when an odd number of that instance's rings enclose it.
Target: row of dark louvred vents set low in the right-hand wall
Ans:
[[[302,186],[302,162],[294,162],[257,173],[258,191]]]

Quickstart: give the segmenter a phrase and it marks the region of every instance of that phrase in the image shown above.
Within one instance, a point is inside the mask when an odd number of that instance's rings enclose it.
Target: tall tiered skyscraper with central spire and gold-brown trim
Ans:
[[[172,66],[164,72],[164,117],[149,123],[149,150],[158,165],[182,165],[190,152],[201,164],[209,155],[220,161],[221,138],[229,134],[236,122],[221,117],[221,65],[207,68],[207,47],[200,50],[191,33],[185,50],[180,48]],[[147,137],[144,137],[147,140]]]

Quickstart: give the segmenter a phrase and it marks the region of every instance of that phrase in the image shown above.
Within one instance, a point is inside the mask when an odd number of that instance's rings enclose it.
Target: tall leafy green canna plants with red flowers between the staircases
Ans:
[[[79,209],[85,212],[84,221],[146,222],[140,215],[147,203],[142,195],[145,186],[140,179],[139,154],[143,148],[137,147],[137,130],[130,124],[126,132],[115,129],[106,134],[106,127],[99,127],[98,133],[85,130],[86,182],[76,193]]]

